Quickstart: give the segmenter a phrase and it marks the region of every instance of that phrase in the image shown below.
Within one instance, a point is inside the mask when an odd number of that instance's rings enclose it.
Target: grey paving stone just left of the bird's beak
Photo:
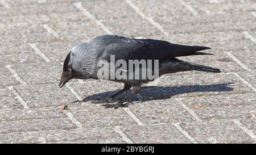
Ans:
[[[59,82],[63,66],[60,63],[30,63],[17,64],[12,68],[18,76],[27,83],[53,83]]]

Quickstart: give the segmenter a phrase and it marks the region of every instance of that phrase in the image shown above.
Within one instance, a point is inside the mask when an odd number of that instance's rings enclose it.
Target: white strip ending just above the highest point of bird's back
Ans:
[[[73,3],[73,5],[79,9],[79,11],[82,12],[82,14],[84,14],[85,16],[87,16],[89,19],[93,20],[98,26],[100,26],[102,28],[102,30],[104,30],[106,33],[108,34],[113,34],[113,32],[111,32],[109,30],[109,28],[107,28],[103,23],[101,23],[99,20],[97,20],[92,14],[90,14],[89,11],[87,11],[84,7],[82,7],[82,2],[76,2]]]

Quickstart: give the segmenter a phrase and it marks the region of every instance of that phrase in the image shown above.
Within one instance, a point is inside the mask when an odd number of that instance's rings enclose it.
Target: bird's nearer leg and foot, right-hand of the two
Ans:
[[[123,104],[126,101],[129,101],[134,95],[138,94],[139,91],[141,91],[141,86],[133,86],[133,89],[131,90],[131,94],[128,95],[128,97],[119,100],[117,103],[115,104],[103,104],[102,106],[104,106],[105,108],[118,108],[118,107],[127,107],[129,103]]]

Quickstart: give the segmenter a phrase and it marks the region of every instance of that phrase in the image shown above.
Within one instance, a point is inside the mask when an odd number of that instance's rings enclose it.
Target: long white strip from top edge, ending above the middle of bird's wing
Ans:
[[[134,5],[131,1],[125,1],[134,11],[137,12],[142,18],[146,19],[148,22],[150,22],[154,27],[158,28],[164,35],[168,36],[168,33],[164,31],[163,27],[156,22],[153,18],[146,16],[137,6]]]

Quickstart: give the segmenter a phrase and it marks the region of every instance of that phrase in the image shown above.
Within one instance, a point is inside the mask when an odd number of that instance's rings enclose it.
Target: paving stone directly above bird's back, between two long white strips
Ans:
[[[147,20],[142,19],[125,1],[89,1],[89,3],[92,5],[86,5],[85,3],[82,5],[96,19],[102,20],[102,23],[116,35],[136,37],[160,34],[157,28]],[[98,9],[98,7],[101,7],[101,9]],[[111,7],[114,7],[114,9],[111,9]]]

